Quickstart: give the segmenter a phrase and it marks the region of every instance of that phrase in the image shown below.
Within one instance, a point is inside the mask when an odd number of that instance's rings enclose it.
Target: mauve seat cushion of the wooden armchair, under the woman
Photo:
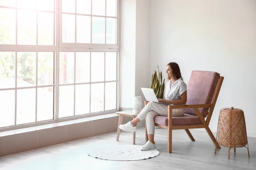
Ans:
[[[155,116],[154,122],[160,125],[168,126],[167,116]],[[184,114],[181,117],[172,117],[172,125],[201,125],[201,121],[198,116],[191,114]]]

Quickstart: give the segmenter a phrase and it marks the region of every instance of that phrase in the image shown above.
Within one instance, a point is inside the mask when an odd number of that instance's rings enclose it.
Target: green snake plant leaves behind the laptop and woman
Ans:
[[[151,88],[154,90],[154,93],[157,96],[157,99],[163,99],[163,92],[164,92],[164,81],[165,79],[163,79],[162,82],[162,71],[159,71],[159,67],[157,65],[158,68],[158,77],[157,77],[157,71],[154,71],[154,74],[152,74],[152,79],[151,79]]]

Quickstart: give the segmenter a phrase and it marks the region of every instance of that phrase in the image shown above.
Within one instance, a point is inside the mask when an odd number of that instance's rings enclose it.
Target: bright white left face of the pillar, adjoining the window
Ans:
[[[120,107],[131,108],[135,96],[136,0],[122,0]]]

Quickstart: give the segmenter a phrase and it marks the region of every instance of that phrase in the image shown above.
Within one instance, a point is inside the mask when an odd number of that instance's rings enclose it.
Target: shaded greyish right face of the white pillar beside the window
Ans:
[[[150,0],[137,0],[136,8],[136,71],[135,94],[145,97],[141,88],[150,88]],[[151,71],[151,74],[153,72]]]

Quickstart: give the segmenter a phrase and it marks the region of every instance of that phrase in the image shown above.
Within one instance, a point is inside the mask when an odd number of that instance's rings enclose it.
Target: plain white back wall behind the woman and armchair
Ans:
[[[233,106],[256,137],[256,0],[151,0],[150,55],[150,71],[177,62],[186,83],[192,70],[224,76],[210,129]]]

